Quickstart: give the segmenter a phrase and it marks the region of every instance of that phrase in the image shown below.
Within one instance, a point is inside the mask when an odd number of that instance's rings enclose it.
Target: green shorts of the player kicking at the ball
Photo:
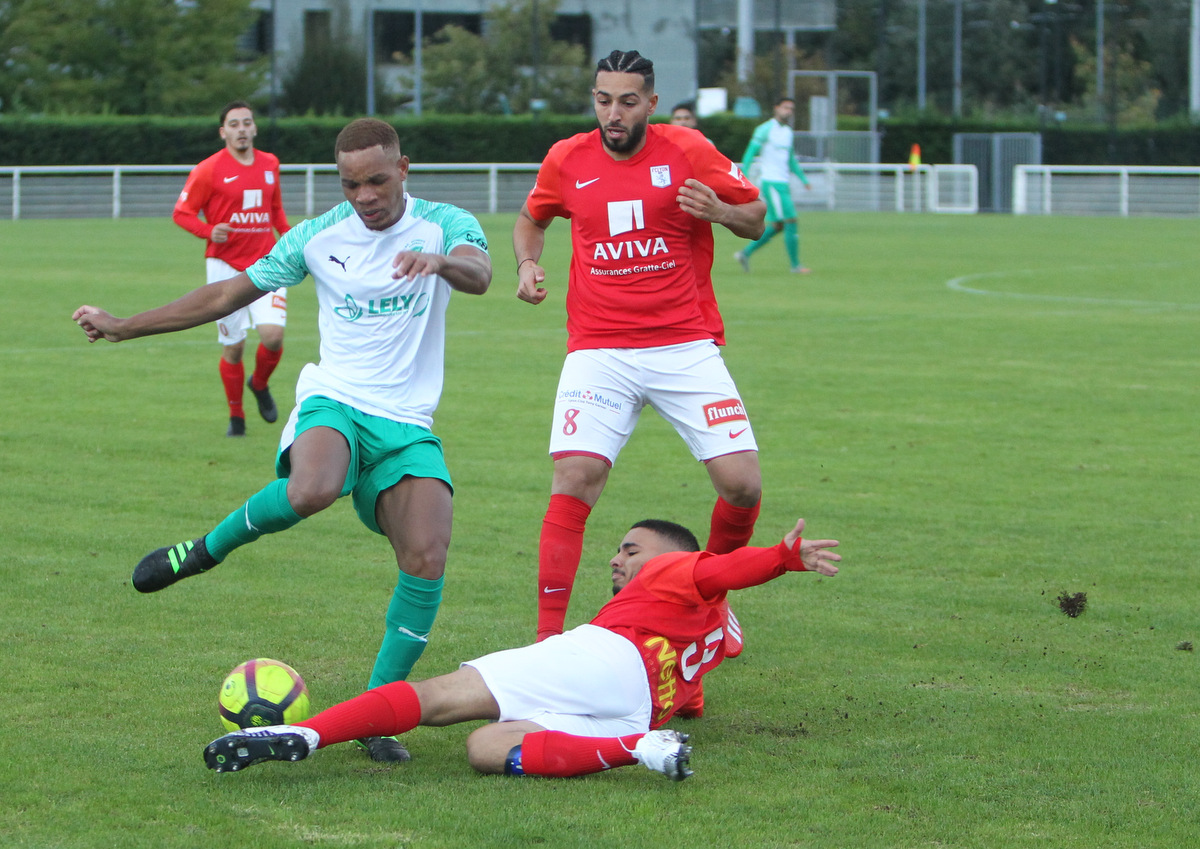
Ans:
[[[293,440],[313,427],[331,427],[346,436],[350,446],[350,468],[342,495],[354,493],[354,511],[376,534],[383,534],[376,522],[376,500],[379,493],[402,478],[434,477],[445,481],[454,492],[442,440],[424,427],[371,416],[319,395],[300,404]],[[275,458],[275,474],[280,477],[292,474],[290,450],[292,444],[281,447]]]

